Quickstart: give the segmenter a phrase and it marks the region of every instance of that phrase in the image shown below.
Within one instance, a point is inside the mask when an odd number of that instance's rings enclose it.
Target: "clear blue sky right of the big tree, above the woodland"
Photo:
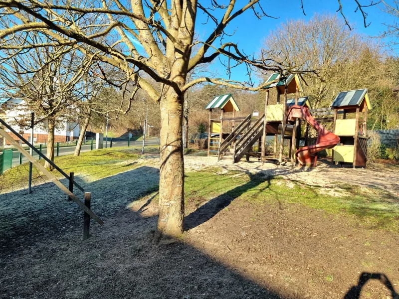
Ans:
[[[244,3],[244,0],[237,0],[237,5]],[[304,15],[300,9],[300,0],[286,0],[286,1],[261,1],[265,12],[271,16],[278,17],[273,19],[264,17],[261,20],[254,17],[253,11],[246,11],[244,14],[238,16],[226,30],[228,33],[235,33],[232,37],[226,37],[224,41],[238,42],[240,50],[243,49],[245,53],[256,53],[261,47],[262,40],[268,33],[279,26],[287,19],[310,19],[315,13],[337,13],[337,0],[303,0],[305,13]],[[363,0],[363,3],[368,0]],[[281,4],[278,4],[281,3]],[[360,11],[355,12],[356,3],[354,0],[343,0],[343,11],[355,31],[363,33],[368,36],[378,36],[386,29],[383,23],[392,23],[393,17],[385,12],[379,6],[366,7],[365,11],[368,13],[367,22],[371,22],[370,26],[364,27],[363,17]],[[204,39],[212,31],[213,24],[202,25],[204,17],[201,12],[198,14],[198,23],[196,31],[200,35],[200,39]],[[343,21],[343,19],[342,19]],[[216,45],[216,44],[215,44]],[[216,62],[211,66],[211,69],[218,70],[218,76],[225,77],[225,70],[223,66]],[[247,80],[245,76],[246,71],[244,67],[238,67],[232,70],[232,80]]]

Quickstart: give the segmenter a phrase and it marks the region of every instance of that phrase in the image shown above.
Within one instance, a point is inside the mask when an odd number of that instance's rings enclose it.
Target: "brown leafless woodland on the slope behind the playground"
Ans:
[[[282,23],[267,35],[263,47],[264,50],[279,49],[270,52],[274,53],[274,60],[305,71],[301,75],[304,92],[300,96],[308,96],[313,108],[329,107],[340,91],[367,88],[373,106],[368,129],[399,129],[399,97],[393,91],[399,85],[399,59],[382,39],[350,30],[336,15],[315,14],[310,21],[299,19]],[[317,71],[306,73],[307,70]],[[191,74],[194,77],[195,71]],[[257,74],[260,81],[266,80],[269,75]],[[270,104],[275,102],[274,92],[271,91]],[[263,91],[250,92],[212,84],[194,87],[185,95],[189,139],[207,130],[205,105],[213,97],[227,93],[231,93],[239,105],[241,111],[237,116],[264,110]],[[110,87],[102,90],[99,97],[108,103],[119,103],[123,95],[118,89]],[[159,104],[139,90],[132,106],[134,109],[127,114],[109,114],[109,130],[117,135],[126,132],[142,134],[148,109],[149,134],[157,136],[160,132]],[[105,132],[105,123],[104,115],[93,117],[93,131]]]

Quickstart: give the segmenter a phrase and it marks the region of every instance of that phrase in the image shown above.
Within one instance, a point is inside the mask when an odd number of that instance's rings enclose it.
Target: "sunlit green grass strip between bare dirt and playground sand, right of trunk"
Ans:
[[[320,186],[262,174],[238,175],[232,171],[217,173],[217,169],[207,169],[189,172],[186,176],[186,201],[193,200],[196,204],[219,195],[258,203],[302,204],[327,213],[355,216],[359,224],[373,229],[399,231],[399,199],[384,190],[371,196],[364,188],[338,184],[332,188],[337,191],[342,188],[346,192],[337,197],[325,194]]]

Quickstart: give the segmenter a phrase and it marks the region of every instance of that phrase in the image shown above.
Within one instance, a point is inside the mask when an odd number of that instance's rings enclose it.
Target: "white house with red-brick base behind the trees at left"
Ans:
[[[30,140],[30,128],[22,127],[18,125],[18,122],[22,119],[30,118],[30,112],[24,110],[22,107],[24,100],[21,99],[8,99],[1,104],[0,118],[9,124],[12,129],[22,135],[28,142]],[[9,132],[9,130],[5,130]],[[9,132],[10,133],[10,132]],[[17,141],[14,134],[10,133],[11,136]],[[54,142],[67,142],[79,138],[79,123],[62,121],[55,128]],[[46,122],[37,124],[34,127],[33,143],[46,143],[48,140],[48,126]]]

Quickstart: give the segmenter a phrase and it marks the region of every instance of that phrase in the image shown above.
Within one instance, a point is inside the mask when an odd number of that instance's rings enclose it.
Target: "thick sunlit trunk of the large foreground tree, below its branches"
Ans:
[[[184,161],[182,113],[184,95],[173,88],[161,100],[161,169],[158,232],[178,236],[183,232]]]

